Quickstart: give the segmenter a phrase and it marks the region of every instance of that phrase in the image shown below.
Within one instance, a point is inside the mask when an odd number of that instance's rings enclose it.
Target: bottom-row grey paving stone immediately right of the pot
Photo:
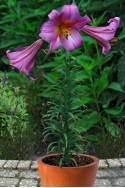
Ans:
[[[97,179],[95,187],[112,187],[112,184],[108,179]]]

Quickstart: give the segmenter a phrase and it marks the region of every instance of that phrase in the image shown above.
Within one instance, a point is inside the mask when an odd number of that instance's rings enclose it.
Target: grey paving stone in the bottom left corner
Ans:
[[[16,178],[0,178],[0,187],[16,187],[18,183]]]

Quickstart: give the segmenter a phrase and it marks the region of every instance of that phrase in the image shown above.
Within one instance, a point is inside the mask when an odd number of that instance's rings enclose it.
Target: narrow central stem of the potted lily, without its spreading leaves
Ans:
[[[72,80],[72,72],[71,72],[71,65],[70,62],[68,61],[68,53],[65,51],[65,78],[64,78],[64,93],[62,93],[62,98],[63,98],[63,116],[62,116],[62,120],[64,122],[64,135],[63,135],[63,139],[64,139],[64,153],[63,153],[63,160],[64,163],[68,163],[70,160],[70,152],[69,152],[69,143],[70,143],[70,137],[69,137],[69,133],[71,132],[70,130],[70,115],[69,113],[72,112],[72,101],[73,101],[73,93],[72,93],[72,87],[74,85],[73,80]],[[75,88],[73,89],[75,90]],[[66,95],[66,97],[65,97]]]

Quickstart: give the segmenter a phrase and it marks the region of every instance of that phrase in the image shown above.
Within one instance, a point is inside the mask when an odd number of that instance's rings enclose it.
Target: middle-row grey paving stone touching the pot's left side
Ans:
[[[19,174],[20,177],[24,178],[36,178],[39,179],[39,173],[38,171],[32,171],[32,170],[23,170]]]

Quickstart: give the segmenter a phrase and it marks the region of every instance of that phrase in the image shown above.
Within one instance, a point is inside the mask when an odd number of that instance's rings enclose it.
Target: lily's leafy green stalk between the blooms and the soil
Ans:
[[[77,135],[72,127],[75,121],[75,110],[73,109],[73,99],[76,95],[75,71],[70,62],[69,53],[65,51],[64,77],[58,82],[57,95],[54,102],[50,103],[50,111],[44,116],[44,123],[49,125],[44,129],[44,138],[46,140],[53,134],[55,139],[49,144],[48,153],[60,154],[60,166],[75,163],[72,153],[78,151],[76,143],[80,140],[80,135]],[[73,114],[74,117],[72,117]]]

